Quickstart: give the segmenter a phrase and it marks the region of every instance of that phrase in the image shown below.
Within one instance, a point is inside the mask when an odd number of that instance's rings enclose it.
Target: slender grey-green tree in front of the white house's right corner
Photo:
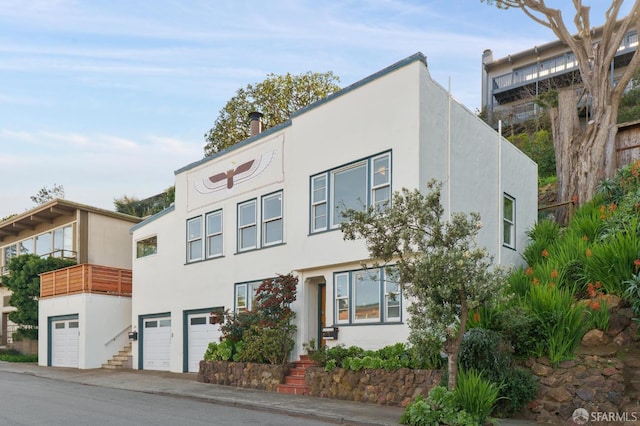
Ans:
[[[403,188],[391,206],[347,210],[340,225],[345,240],[364,239],[375,262],[393,263],[405,296],[412,301],[411,334],[425,330],[443,341],[449,389],[455,389],[458,354],[469,312],[502,302],[504,272],[475,243],[482,224],[477,213],[453,213],[443,220],[441,185],[425,196]],[[410,338],[411,339],[411,338]]]

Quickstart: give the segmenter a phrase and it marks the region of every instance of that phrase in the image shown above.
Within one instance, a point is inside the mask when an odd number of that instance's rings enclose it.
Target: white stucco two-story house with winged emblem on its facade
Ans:
[[[209,313],[250,309],[278,273],[299,278],[294,356],[323,327],[339,328],[328,344],[406,341],[407,301],[388,297],[399,289],[383,270],[362,273],[368,252],[343,241],[339,211],[433,178],[445,214],[479,212],[479,244],[521,262],[536,164],[435,83],[421,53],[177,170],[175,205],[132,228],[134,368],[197,371],[219,336]]]

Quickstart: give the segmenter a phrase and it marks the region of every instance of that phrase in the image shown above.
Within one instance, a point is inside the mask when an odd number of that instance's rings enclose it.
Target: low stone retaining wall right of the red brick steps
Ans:
[[[440,383],[436,370],[360,370],[309,367],[305,373],[311,396],[406,406],[419,393],[427,395]]]

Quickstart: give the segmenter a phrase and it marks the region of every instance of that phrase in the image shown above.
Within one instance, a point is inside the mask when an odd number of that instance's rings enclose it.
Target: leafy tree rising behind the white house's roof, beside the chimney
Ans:
[[[238,89],[218,113],[213,128],[204,135],[205,157],[247,139],[250,112],[263,114],[266,130],[284,123],[299,109],[337,92],[339,82],[340,78],[331,71],[308,71],[298,75],[268,74],[264,81]]]

